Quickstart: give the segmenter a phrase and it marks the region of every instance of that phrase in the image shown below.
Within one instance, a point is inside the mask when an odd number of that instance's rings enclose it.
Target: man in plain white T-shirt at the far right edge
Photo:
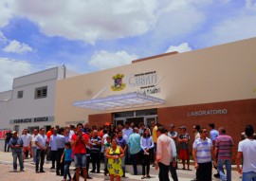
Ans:
[[[256,181],[256,140],[252,125],[247,125],[245,132],[247,138],[238,144],[237,171],[243,173],[243,181]],[[242,157],[243,169],[240,167]]]

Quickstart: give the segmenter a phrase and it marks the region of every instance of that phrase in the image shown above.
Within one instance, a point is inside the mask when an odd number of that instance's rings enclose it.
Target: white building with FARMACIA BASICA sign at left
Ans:
[[[12,90],[0,93],[1,145],[8,130],[21,135],[25,128],[49,129],[55,119],[56,81],[75,75],[78,74],[59,66],[15,78]]]

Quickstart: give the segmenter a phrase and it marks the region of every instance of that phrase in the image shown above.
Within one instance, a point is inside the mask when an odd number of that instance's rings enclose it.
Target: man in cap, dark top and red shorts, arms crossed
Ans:
[[[191,139],[190,135],[186,133],[186,126],[179,127],[181,134],[178,136],[177,142],[179,145],[179,158],[182,160],[183,168],[185,169],[185,160],[187,160],[188,171],[192,171],[190,169],[190,154],[189,154],[189,141]]]

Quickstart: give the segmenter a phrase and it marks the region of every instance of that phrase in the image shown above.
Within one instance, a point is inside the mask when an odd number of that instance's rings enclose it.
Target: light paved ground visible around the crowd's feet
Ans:
[[[4,153],[0,151],[0,180],[8,180],[8,181],[61,181],[63,180],[62,176],[57,176],[55,174],[55,170],[50,170],[51,167],[50,163],[45,164],[45,171],[44,173],[36,173],[34,169],[34,165],[32,164],[32,159],[26,159],[25,160],[25,171],[26,172],[12,172],[12,156],[11,153]],[[181,167],[181,166],[180,166]],[[72,168],[72,167],[71,167]],[[19,167],[18,167],[19,169]],[[191,167],[192,171],[182,171],[178,170],[178,178],[180,181],[190,181],[192,178],[194,178],[195,171]],[[130,172],[132,170],[131,166],[127,166],[126,170],[128,171],[126,173],[126,176],[128,178],[121,178],[123,181],[137,181],[141,180],[141,175],[132,175]],[[138,170],[140,170],[140,166],[138,166]],[[102,171],[101,171],[102,172]],[[156,181],[158,180],[157,172],[154,168],[151,168],[151,176],[150,179],[145,179],[145,181]],[[215,173],[215,171],[213,171]],[[108,176],[104,176],[103,173],[91,173],[90,174],[95,181],[103,181],[103,180],[109,180]],[[81,178],[82,180],[82,178]],[[172,180],[172,178],[170,178]],[[213,181],[219,180],[219,179],[212,179]],[[236,171],[232,171],[232,180],[238,181],[241,180],[239,178],[239,174]]]

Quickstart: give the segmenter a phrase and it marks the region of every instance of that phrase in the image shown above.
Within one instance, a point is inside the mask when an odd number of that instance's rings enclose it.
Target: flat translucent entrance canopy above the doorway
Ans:
[[[164,100],[143,95],[140,93],[127,93],[123,95],[109,96],[101,99],[81,100],[73,103],[76,107],[84,107],[98,110],[116,110],[133,107],[143,107],[163,104]]]

